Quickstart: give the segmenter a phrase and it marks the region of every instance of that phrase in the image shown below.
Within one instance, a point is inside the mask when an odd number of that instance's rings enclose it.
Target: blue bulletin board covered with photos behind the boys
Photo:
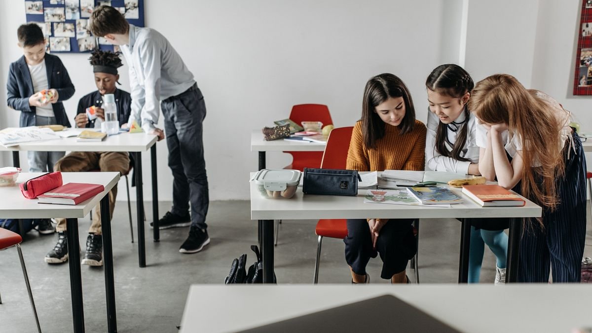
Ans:
[[[91,52],[117,50],[117,46],[88,30],[92,9],[108,5],[118,9],[126,20],[144,26],[144,0],[43,0],[25,1],[27,23],[36,23],[47,39],[47,52]]]

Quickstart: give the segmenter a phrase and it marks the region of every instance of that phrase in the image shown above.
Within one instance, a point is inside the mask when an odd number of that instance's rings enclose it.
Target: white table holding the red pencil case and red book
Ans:
[[[119,172],[62,172],[63,183],[87,182],[101,184],[105,187],[102,193],[76,206],[60,204],[38,204],[37,199],[27,199],[21,194],[18,184],[43,173],[21,173],[17,185],[0,187],[0,216],[11,219],[49,219],[63,217],[66,219],[66,235],[68,243],[70,267],[70,293],[72,296],[72,316],[75,332],[84,331],[84,311],[82,303],[82,277],[80,267],[80,245],[78,241],[78,219],[85,217],[96,204],[101,203],[101,228],[104,253],[105,290],[107,293],[107,326],[108,331],[117,332],[115,316],[115,284],[113,281],[113,251],[111,245],[111,217],[109,212],[108,193],[119,181]]]

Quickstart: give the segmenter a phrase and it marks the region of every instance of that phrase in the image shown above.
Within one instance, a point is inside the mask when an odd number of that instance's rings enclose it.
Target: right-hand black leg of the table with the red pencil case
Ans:
[[[101,230],[103,233],[103,262],[105,263],[105,292],[107,296],[107,329],[117,332],[115,312],[115,282],[113,280],[113,248],[111,245],[111,216],[109,194],[101,199]]]

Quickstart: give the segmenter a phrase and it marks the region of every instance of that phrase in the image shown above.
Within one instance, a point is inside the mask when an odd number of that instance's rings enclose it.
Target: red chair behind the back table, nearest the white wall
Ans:
[[[332,125],[333,120],[327,105],[300,104],[294,105],[290,112],[290,119],[300,125],[303,121],[320,121],[323,126]],[[304,168],[319,168],[323,152],[285,152],[292,155],[292,164],[284,169],[304,171]]]

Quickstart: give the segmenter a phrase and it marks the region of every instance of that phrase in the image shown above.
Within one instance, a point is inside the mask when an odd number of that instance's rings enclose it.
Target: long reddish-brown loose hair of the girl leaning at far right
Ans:
[[[553,210],[559,203],[556,179],[565,172],[559,131],[562,124],[556,110],[538,91],[527,90],[514,76],[496,74],[477,82],[469,108],[484,123],[506,123],[509,140],[522,143],[522,195]],[[532,167],[532,165],[540,167]],[[540,223],[539,219],[539,223]]]

